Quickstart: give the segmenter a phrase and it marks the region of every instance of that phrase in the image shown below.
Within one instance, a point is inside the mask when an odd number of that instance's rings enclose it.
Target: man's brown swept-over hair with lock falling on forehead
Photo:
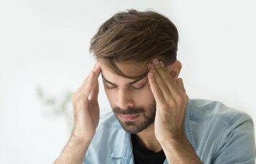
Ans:
[[[159,58],[165,65],[176,61],[178,30],[165,16],[157,12],[127,9],[118,12],[99,27],[91,39],[90,52],[114,73],[124,74],[116,62],[149,62]]]

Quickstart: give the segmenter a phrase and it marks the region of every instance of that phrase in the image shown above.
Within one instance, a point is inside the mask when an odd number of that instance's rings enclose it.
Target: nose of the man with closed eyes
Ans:
[[[118,106],[121,109],[128,109],[133,105],[134,102],[132,101],[132,96],[124,90],[118,90],[116,106]]]

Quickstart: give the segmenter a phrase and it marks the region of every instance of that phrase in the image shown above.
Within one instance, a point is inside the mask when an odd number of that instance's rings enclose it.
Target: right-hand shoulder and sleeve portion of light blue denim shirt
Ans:
[[[203,161],[255,160],[254,128],[249,114],[205,99],[189,99],[187,109],[187,136]]]

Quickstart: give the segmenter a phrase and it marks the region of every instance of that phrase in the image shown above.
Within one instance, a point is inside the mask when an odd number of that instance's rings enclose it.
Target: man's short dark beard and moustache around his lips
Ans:
[[[156,117],[156,101],[147,106],[147,109],[140,107],[132,107],[129,109],[121,109],[115,107],[113,109],[114,114],[116,114],[117,120],[120,122],[121,127],[128,133],[139,133],[140,131],[148,128],[151,123],[154,122]],[[122,121],[117,117],[117,114],[140,114],[135,121]]]

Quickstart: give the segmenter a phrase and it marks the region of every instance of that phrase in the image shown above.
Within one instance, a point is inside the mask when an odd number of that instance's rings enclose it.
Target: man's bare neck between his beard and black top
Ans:
[[[157,138],[154,134],[154,122],[148,126],[148,128],[142,130],[136,134],[140,138],[141,143],[147,149],[150,149],[153,152],[159,152],[162,150],[161,145],[157,141]]]

